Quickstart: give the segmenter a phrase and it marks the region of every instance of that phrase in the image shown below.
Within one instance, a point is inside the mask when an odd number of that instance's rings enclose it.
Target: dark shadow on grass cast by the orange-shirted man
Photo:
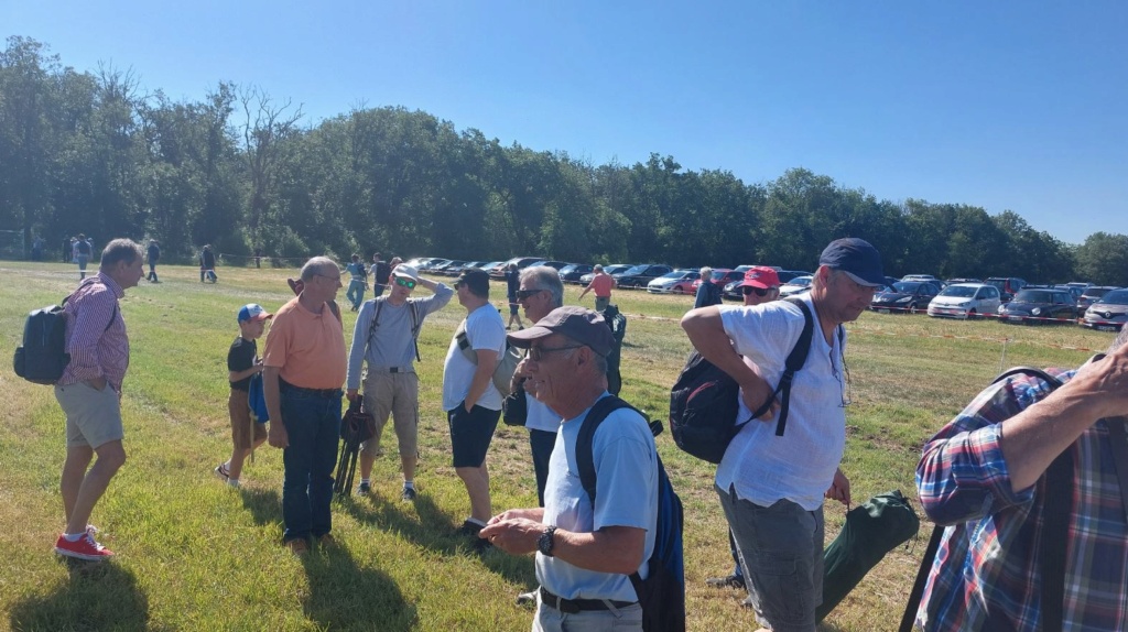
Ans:
[[[399,586],[372,568],[356,566],[346,549],[317,548],[302,558],[309,596],[302,608],[321,630],[400,632],[417,625],[415,606]]]

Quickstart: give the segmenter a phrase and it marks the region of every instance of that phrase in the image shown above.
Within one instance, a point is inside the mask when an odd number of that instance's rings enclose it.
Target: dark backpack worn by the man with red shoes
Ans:
[[[79,287],[92,283],[98,283],[98,278],[87,279]],[[16,348],[11,358],[16,375],[36,384],[54,384],[63,376],[70,364],[70,354],[67,353],[67,312],[63,308],[73,295],[63,299],[59,305],[47,305],[27,314],[27,320],[24,321],[24,344]],[[106,329],[114,323],[116,315],[115,305]]]

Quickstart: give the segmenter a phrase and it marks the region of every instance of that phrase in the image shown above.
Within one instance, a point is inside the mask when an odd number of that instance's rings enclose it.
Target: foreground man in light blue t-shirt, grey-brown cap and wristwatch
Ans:
[[[658,452],[641,415],[611,412],[591,452],[597,493],[580,482],[575,459],[583,420],[607,393],[607,354],[615,341],[598,313],[566,306],[509,335],[529,349],[530,390],[563,418],[548,463],[545,506],[494,516],[479,537],[514,555],[537,552],[535,630],[642,630],[631,573],[647,575],[658,529]]]

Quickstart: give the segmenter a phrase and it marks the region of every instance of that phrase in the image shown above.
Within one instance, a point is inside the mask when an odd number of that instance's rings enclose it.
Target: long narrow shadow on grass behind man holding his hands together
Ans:
[[[406,505],[402,500],[388,500],[378,495],[370,495],[363,500],[343,498],[338,501],[338,507],[361,524],[398,533],[415,545],[442,555],[478,555],[483,566],[508,581],[530,589],[537,586],[531,558],[497,550],[475,553],[470,548],[474,541],[469,536],[456,535],[455,529],[460,525],[452,524],[430,498],[420,496],[414,505],[415,515],[404,509]]]

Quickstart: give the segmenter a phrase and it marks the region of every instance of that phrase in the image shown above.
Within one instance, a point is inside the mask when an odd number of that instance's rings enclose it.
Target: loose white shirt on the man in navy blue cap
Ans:
[[[792,382],[784,436],[775,434],[778,413],[773,421],[748,422],[729,444],[716,469],[716,484],[725,491],[735,484],[741,499],[763,507],[785,498],[813,511],[822,505],[822,495],[834,481],[846,447],[846,410],[841,406],[846,379],[837,330],[828,345],[810,296],[803,301],[811,310],[814,331],[807,364]],[[803,330],[803,313],[786,301],[723,305],[720,311],[737,353],[755,363],[775,388]],[[734,424],[752,416],[743,399],[737,416]]]

